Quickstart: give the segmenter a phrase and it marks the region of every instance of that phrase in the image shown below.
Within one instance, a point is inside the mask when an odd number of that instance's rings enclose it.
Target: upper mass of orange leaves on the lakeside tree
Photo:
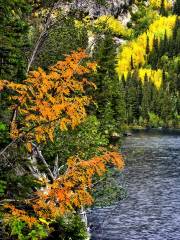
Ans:
[[[2,81],[1,88],[6,85],[15,92],[12,99],[18,102],[14,108],[21,119],[21,127],[17,120],[12,122],[12,138],[23,136],[28,142],[38,143],[47,138],[53,141],[55,128],[63,131],[80,124],[86,117],[85,106],[91,102],[85,88],[95,87],[86,76],[95,66],[88,63],[85,51],[79,50],[49,67],[47,72],[41,68],[31,72],[22,84]]]

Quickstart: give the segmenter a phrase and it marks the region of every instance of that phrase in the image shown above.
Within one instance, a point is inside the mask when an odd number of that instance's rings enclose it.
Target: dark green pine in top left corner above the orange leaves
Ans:
[[[0,79],[23,80],[26,73],[25,47],[29,46],[26,1],[0,1]]]

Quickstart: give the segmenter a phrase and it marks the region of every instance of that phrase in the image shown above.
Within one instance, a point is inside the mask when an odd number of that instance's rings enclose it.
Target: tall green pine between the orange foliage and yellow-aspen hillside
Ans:
[[[116,73],[116,45],[110,34],[97,44],[94,57],[98,63],[94,81],[97,90],[94,98],[97,102],[97,117],[103,130],[118,129],[124,119],[124,93]],[[124,121],[124,120],[123,120]]]

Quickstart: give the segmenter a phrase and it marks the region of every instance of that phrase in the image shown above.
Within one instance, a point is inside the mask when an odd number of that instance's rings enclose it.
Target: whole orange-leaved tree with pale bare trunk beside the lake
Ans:
[[[69,212],[79,212],[93,203],[90,193],[93,176],[101,176],[107,166],[123,168],[119,153],[101,149],[100,156],[89,160],[70,157],[64,172],[58,175],[58,171],[52,171],[52,166],[49,166],[41,150],[43,142],[54,141],[57,129],[67,131],[85,120],[85,108],[92,101],[86,95],[86,87],[95,87],[87,75],[95,66],[95,63],[88,61],[85,51],[79,50],[49,67],[47,73],[41,68],[31,72],[22,84],[1,82],[1,89],[7,87],[15,92],[12,100],[16,103],[13,105],[16,114],[11,122],[10,133],[13,143],[21,140],[26,145],[29,169],[42,184],[42,188],[34,192],[33,198],[25,201],[28,209],[31,208],[30,212],[14,205],[5,205],[7,223],[17,218],[29,229],[42,224],[48,231],[53,219]],[[39,160],[46,173],[38,169]],[[58,156],[54,167],[60,167]],[[83,220],[86,221],[85,218]]]

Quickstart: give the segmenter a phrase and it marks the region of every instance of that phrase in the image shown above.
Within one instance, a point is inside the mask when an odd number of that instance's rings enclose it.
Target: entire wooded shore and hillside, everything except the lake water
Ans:
[[[0,0],[0,237],[88,239],[121,199],[113,137],[180,128],[180,1]]]

